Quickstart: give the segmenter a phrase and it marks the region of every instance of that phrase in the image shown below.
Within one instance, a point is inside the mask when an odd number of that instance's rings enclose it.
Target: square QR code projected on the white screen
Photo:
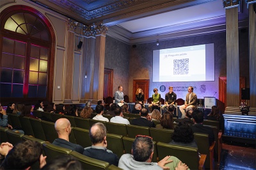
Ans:
[[[173,59],[173,74],[185,75],[189,73],[189,59]]]

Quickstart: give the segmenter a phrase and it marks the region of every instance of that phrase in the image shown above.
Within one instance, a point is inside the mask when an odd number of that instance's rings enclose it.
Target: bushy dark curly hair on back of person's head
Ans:
[[[188,123],[179,122],[174,128],[172,139],[177,143],[191,143],[194,140],[193,130]]]

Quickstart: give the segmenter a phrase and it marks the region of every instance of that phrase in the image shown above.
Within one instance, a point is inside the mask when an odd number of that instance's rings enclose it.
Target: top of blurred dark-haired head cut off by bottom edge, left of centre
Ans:
[[[82,165],[77,158],[72,155],[61,155],[49,162],[42,169],[51,170],[81,170]]]

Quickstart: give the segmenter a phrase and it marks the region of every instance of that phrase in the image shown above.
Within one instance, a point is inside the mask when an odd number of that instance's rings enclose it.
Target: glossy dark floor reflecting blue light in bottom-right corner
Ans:
[[[223,143],[219,169],[256,169],[255,146]]]

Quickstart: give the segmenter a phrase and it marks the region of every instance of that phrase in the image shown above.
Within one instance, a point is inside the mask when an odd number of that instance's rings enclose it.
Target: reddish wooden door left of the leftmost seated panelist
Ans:
[[[104,68],[103,98],[113,97],[113,69]]]

